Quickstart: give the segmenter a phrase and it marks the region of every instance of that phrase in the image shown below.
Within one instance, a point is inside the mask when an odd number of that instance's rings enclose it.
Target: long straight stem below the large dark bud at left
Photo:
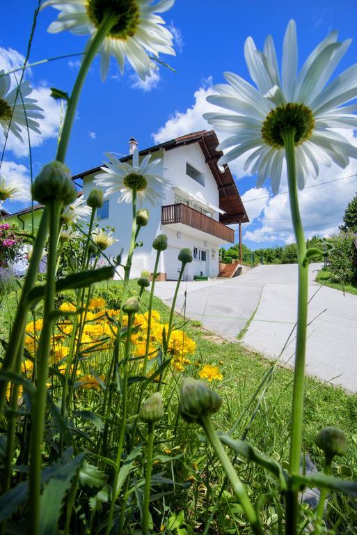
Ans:
[[[30,437],[31,463],[29,472],[29,533],[37,535],[40,519],[40,477],[41,451],[43,431],[45,426],[47,375],[49,349],[51,346],[51,330],[54,323],[54,297],[56,289],[56,249],[59,228],[59,217],[62,203],[56,199],[49,203],[49,253],[47,259],[47,279],[45,288],[45,302],[43,323],[38,347],[38,382],[33,399],[32,426]]]

